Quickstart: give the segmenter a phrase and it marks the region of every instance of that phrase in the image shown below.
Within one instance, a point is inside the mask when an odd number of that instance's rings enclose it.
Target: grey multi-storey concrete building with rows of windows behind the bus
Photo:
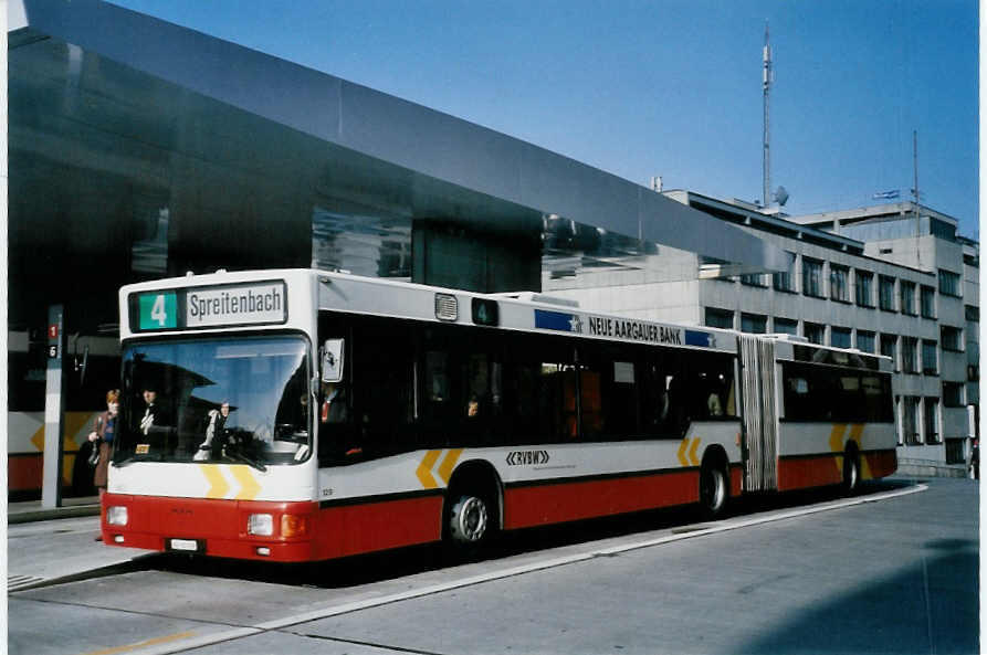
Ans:
[[[544,287],[598,309],[886,355],[902,469],[965,472],[979,420],[979,245],[955,218],[912,202],[787,216],[665,196],[774,243],[785,270],[743,274],[680,251],[651,272],[549,271]]]

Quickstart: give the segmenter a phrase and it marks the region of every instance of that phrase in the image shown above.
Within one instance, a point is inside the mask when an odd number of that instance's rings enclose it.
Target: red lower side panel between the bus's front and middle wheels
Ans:
[[[528,528],[699,500],[699,471],[508,487],[504,528]]]

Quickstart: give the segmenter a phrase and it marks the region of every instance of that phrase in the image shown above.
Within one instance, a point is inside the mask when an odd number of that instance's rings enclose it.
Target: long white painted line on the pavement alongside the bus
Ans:
[[[435,453],[434,457],[432,458],[432,464],[434,464],[434,461],[439,458],[440,452],[441,451],[430,451],[429,452],[429,454]],[[431,466],[429,466],[429,468],[431,468]],[[896,489],[894,492],[885,492],[882,494],[873,494],[871,496],[862,496],[859,498],[848,498],[848,499],[834,500],[834,501],[829,501],[829,503],[820,503],[818,505],[812,505],[809,507],[800,507],[800,508],[792,509],[789,511],[770,514],[768,516],[742,518],[736,521],[726,520],[723,522],[708,525],[708,527],[697,527],[697,529],[691,530],[687,532],[668,533],[668,535],[663,535],[663,536],[654,538],[654,539],[645,539],[643,541],[636,541],[632,543],[623,543],[623,545],[613,546],[610,548],[601,548],[601,549],[592,549],[591,548],[588,552],[553,558],[553,559],[543,560],[539,562],[522,564],[519,567],[511,567],[511,568],[502,569],[498,571],[481,573],[477,575],[470,575],[468,578],[462,578],[459,580],[450,580],[448,582],[440,582],[438,584],[431,584],[429,587],[422,587],[420,589],[410,589],[408,591],[403,591],[403,592],[399,592],[399,593],[391,593],[391,594],[371,598],[371,599],[365,599],[365,600],[360,600],[360,601],[345,602],[345,603],[340,603],[340,604],[336,604],[336,605],[327,605],[325,608],[319,608],[316,610],[312,610],[309,612],[303,612],[300,614],[294,614],[292,616],[284,616],[282,619],[275,619],[274,621],[266,621],[264,623],[259,623],[256,625],[252,625],[249,627],[240,627],[240,628],[235,628],[235,630],[229,630],[225,632],[201,635],[193,640],[187,640],[187,641],[183,641],[180,643],[157,644],[157,647],[153,647],[155,645],[148,644],[149,647],[141,649],[139,655],[172,655],[176,653],[186,652],[191,648],[209,646],[209,645],[219,644],[222,642],[230,642],[230,641],[234,641],[238,638],[243,638],[246,636],[260,634],[262,632],[269,632],[269,631],[274,631],[274,630],[284,630],[284,628],[291,627],[293,625],[309,623],[312,621],[319,621],[323,619],[329,619],[332,616],[339,616],[342,614],[349,614],[351,612],[369,610],[371,608],[390,605],[390,604],[399,603],[402,601],[409,601],[409,600],[414,600],[414,599],[424,598],[424,596],[429,596],[429,595],[434,595],[437,593],[444,593],[447,591],[452,591],[454,589],[463,589],[466,587],[473,587],[476,584],[493,582],[495,580],[504,580],[506,578],[513,578],[515,575],[524,575],[526,573],[534,573],[537,571],[545,571],[548,569],[555,569],[558,567],[565,567],[568,564],[585,562],[585,561],[589,561],[589,560],[592,560],[592,559],[599,558],[599,557],[620,554],[622,552],[640,550],[643,548],[651,548],[654,546],[671,543],[673,541],[682,541],[683,539],[695,539],[697,537],[705,537],[705,536],[715,535],[718,532],[726,532],[728,530],[737,530],[741,528],[748,528],[752,526],[769,524],[769,522],[786,520],[786,519],[790,519],[790,518],[798,518],[798,517],[802,517],[802,516],[809,516],[812,514],[819,514],[822,511],[829,511],[829,510],[833,510],[833,509],[843,509],[847,507],[863,505],[865,503],[878,503],[880,500],[888,500],[891,498],[897,498],[901,496],[917,494],[920,492],[925,492],[927,489],[928,489],[928,485],[924,485],[924,484],[916,485],[914,487],[906,487],[904,489]],[[115,653],[115,652],[116,651],[107,651],[107,652],[99,652],[99,654],[88,653],[86,655],[108,655],[108,653]]]

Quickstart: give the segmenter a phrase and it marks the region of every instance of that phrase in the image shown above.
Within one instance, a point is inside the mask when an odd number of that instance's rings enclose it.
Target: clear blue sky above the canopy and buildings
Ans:
[[[114,0],[640,184],[798,215],[912,198],[979,239],[977,0]]]

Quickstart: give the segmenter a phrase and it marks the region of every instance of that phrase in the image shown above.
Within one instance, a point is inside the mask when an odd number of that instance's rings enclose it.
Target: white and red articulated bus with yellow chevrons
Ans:
[[[888,358],[313,270],[120,289],[107,545],[300,562],[896,468]]]

